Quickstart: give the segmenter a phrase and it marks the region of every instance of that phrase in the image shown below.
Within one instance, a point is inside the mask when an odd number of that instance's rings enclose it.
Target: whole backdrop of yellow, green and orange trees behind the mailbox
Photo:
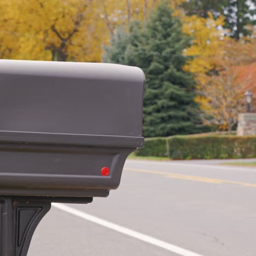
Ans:
[[[0,58],[138,66],[147,78],[144,135],[231,132],[245,90],[256,94],[255,5],[1,0]]]

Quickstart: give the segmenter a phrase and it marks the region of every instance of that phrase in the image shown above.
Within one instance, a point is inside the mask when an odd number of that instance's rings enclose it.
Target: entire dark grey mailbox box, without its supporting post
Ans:
[[[107,196],[143,147],[143,91],[136,67],[0,60],[0,195]]]

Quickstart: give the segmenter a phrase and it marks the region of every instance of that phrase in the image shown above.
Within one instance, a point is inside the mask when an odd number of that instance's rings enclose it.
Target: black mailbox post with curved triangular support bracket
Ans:
[[[0,197],[0,256],[26,256],[33,232],[50,202]]]

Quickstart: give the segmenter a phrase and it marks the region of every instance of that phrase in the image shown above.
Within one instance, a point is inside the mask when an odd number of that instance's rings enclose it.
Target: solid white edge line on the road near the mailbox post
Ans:
[[[152,236],[144,235],[135,230],[125,228],[124,226],[120,226],[120,225],[114,224],[112,222],[108,222],[107,220],[95,217],[91,214],[76,210],[72,207],[63,205],[63,203],[52,203],[52,206],[55,208],[58,208],[59,210],[62,210],[64,212],[73,214],[74,216],[89,220],[90,222],[96,223],[98,225],[102,225],[105,228],[112,229],[114,231],[120,232],[127,236],[131,236],[133,238],[137,238],[138,240],[150,243],[151,245],[161,247],[163,249],[166,249],[167,251],[170,251],[170,252],[173,252],[173,253],[176,253],[179,255],[183,255],[183,256],[202,256],[200,254],[188,251],[179,246],[172,245],[171,243],[164,242],[164,241],[154,238]]]

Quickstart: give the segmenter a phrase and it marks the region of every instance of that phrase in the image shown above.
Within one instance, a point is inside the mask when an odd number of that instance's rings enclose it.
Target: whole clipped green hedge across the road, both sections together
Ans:
[[[139,156],[169,156],[171,159],[256,158],[256,136],[182,135],[148,138]]]

